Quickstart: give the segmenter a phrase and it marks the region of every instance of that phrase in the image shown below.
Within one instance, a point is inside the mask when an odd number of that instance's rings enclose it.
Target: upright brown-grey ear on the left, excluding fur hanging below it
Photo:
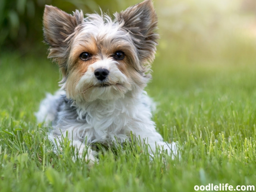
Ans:
[[[45,5],[44,8],[44,41],[52,47],[65,46],[65,39],[71,35],[76,26],[84,20],[82,11],[76,10],[70,15],[57,7]]]

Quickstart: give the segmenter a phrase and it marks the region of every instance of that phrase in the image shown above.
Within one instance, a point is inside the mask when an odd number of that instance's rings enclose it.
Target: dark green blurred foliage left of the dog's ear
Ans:
[[[41,14],[44,1],[2,0],[0,2],[0,47],[20,48],[42,41]],[[36,21],[36,19],[39,19]],[[40,41],[39,40],[39,41]]]

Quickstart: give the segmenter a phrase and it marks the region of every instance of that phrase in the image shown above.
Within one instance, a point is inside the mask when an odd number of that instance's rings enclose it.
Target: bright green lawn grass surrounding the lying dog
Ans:
[[[176,30],[159,24],[162,40],[147,91],[158,104],[153,116],[157,130],[164,140],[178,142],[180,158],[161,154],[150,161],[139,145],[126,143],[124,149],[102,148],[99,164],[89,167],[72,161],[67,140],[61,155],[55,155],[46,138],[49,127],[36,124],[34,112],[45,92],[57,90],[58,68],[46,55],[2,52],[1,192],[183,192],[209,183],[255,185],[255,39],[225,36],[220,25],[220,35],[195,40],[190,31],[177,36]]]

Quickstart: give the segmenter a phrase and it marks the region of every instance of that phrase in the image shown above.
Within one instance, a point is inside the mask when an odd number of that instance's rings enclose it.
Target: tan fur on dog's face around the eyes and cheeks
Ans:
[[[126,88],[123,90],[124,93],[127,90],[130,90],[131,87],[134,87],[136,84],[139,84],[139,87],[143,89],[147,80],[138,73],[140,68],[138,68],[136,65],[138,61],[136,60],[136,55],[134,55],[132,50],[134,50],[133,44],[127,42],[127,40],[116,39],[115,36],[102,38],[100,36],[93,36],[93,34],[83,33],[83,31],[80,34],[77,34],[72,42],[70,56],[68,59],[68,76],[65,86],[68,98],[75,100],[77,95],[81,95],[80,98],[87,98],[87,95],[90,94],[90,92],[88,93],[84,90],[100,86],[100,82],[95,83],[95,81],[98,80],[93,75],[93,71],[97,68],[94,67],[93,64],[104,59],[114,61],[111,65],[115,65],[117,67],[115,70],[119,70],[127,78],[125,85],[120,85],[119,82],[113,82],[113,78],[115,78],[111,75],[114,73],[113,69],[111,69],[113,66],[109,66],[107,69],[110,70],[110,74],[107,77],[108,81],[105,82],[106,84],[108,84],[108,82],[111,82],[111,84],[119,84],[116,86],[120,91],[122,91],[120,86],[126,86]],[[113,56],[117,51],[124,52],[124,59],[115,61]],[[88,52],[91,55],[91,58],[86,61],[81,60],[80,55],[83,52]],[[87,73],[88,67],[91,68],[89,73],[92,74],[88,78],[91,78],[92,82],[94,83],[84,84],[83,89],[78,91],[76,88],[77,84],[79,83],[79,80]],[[104,66],[100,68],[104,68]]]

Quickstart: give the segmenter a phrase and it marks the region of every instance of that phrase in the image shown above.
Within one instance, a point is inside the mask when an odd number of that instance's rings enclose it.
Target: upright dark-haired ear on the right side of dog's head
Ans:
[[[157,16],[152,0],[133,5],[125,11],[115,13],[116,20],[123,23],[138,50],[141,64],[152,62],[155,58],[158,34]]]

